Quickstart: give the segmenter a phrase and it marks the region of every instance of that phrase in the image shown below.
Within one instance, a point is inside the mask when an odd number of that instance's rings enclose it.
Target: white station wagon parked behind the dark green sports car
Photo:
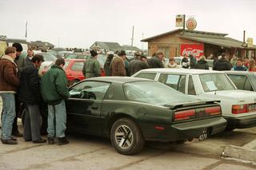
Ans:
[[[188,95],[220,101],[222,116],[228,122],[227,129],[256,126],[256,92],[237,89],[224,72],[204,69],[142,69],[132,77],[148,78]]]

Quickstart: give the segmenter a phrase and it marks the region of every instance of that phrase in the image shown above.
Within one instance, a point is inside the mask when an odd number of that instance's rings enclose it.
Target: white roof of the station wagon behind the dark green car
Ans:
[[[202,74],[202,73],[224,73],[221,71],[209,70],[209,69],[142,69],[140,72],[154,72],[154,73],[191,73],[191,74]]]

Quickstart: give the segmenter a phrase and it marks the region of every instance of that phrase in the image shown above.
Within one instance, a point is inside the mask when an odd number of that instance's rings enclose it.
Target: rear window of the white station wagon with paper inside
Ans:
[[[199,77],[205,92],[235,89],[224,73],[205,73]]]

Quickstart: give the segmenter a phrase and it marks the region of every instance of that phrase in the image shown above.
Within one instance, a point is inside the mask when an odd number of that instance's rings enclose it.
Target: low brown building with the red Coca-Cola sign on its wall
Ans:
[[[142,39],[148,42],[148,53],[152,56],[158,50],[162,50],[165,57],[188,56],[190,53],[199,58],[202,55],[217,57],[220,53],[226,53],[231,57],[234,53],[238,57],[256,57],[256,46],[247,47],[245,42],[226,37],[228,34],[212,33],[182,29],[172,30],[164,34]]]

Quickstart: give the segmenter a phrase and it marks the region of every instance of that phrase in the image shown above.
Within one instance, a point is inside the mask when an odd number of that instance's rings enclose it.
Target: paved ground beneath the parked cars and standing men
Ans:
[[[0,99],[0,110],[2,101]],[[22,131],[20,120],[19,128]],[[46,136],[42,136],[46,139]],[[185,144],[147,143],[136,156],[115,152],[110,140],[68,134],[70,144],[0,144],[2,169],[248,169],[256,168],[256,128],[236,129]]]

